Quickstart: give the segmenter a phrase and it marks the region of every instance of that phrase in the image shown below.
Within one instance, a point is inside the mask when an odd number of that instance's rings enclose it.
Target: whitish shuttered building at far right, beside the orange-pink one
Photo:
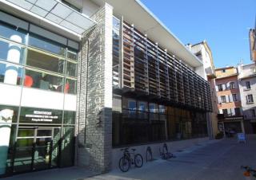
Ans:
[[[256,65],[238,65],[238,71],[245,131],[256,133]]]

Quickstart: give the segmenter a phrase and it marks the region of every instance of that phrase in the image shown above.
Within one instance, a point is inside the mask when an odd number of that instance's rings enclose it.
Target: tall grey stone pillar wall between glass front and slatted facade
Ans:
[[[78,67],[76,165],[104,173],[112,152],[112,17],[106,4],[83,35]]]

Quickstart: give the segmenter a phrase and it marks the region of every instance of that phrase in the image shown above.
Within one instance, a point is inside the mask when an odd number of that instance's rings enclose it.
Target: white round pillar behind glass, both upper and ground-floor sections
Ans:
[[[12,35],[10,40],[22,42],[22,37]],[[7,53],[7,61],[19,63],[21,57],[21,47],[10,43]],[[4,83],[17,84],[18,65],[6,65],[6,73]],[[14,111],[10,109],[3,109],[0,112],[0,174],[6,172],[6,160],[8,156],[8,148],[10,143],[10,130]]]

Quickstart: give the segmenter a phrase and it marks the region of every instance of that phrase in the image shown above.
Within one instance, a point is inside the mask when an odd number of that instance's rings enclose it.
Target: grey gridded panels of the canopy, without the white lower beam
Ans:
[[[37,14],[42,18],[46,18],[50,22],[70,29],[74,33],[82,34],[96,24],[86,15],[73,10],[58,0],[6,0],[20,6],[25,10],[29,10],[33,14]]]

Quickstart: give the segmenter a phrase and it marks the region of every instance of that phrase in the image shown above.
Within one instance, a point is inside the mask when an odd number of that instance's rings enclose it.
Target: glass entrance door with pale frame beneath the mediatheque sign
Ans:
[[[60,127],[19,127],[14,172],[58,166]]]

